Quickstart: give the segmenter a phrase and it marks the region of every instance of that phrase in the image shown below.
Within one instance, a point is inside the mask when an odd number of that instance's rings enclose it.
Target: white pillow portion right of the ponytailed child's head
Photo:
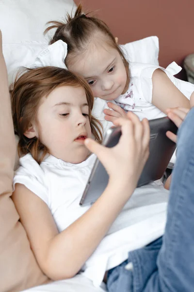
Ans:
[[[140,40],[121,45],[128,61],[159,65],[159,39],[146,37]]]

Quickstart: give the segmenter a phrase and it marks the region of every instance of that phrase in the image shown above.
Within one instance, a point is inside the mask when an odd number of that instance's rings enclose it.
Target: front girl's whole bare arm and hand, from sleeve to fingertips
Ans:
[[[120,118],[114,123],[122,128],[115,147],[106,148],[86,139],[86,146],[97,154],[110,180],[92,207],[60,234],[47,205],[25,186],[16,184],[13,199],[20,219],[40,267],[52,279],[72,277],[81,269],[136,187],[148,157],[149,126],[134,114],[129,117],[131,121]]]

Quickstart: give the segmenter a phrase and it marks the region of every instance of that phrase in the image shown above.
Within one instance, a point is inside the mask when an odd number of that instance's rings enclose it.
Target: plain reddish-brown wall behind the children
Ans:
[[[76,4],[80,1],[75,0]],[[179,65],[194,53],[194,0],[82,0],[111,28],[119,43],[158,36],[160,65]],[[185,79],[185,73],[180,73]]]

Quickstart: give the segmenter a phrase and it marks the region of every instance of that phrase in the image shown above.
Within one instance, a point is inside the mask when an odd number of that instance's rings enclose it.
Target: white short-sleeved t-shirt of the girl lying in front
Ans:
[[[92,154],[80,164],[70,164],[49,155],[39,165],[31,154],[27,154],[20,159],[21,166],[15,173],[14,185],[24,184],[43,200],[59,232],[62,232],[89,209],[89,206],[81,207],[79,202],[95,159]],[[168,191],[160,181],[137,188],[96,251],[86,261],[82,273],[98,286],[105,271],[126,260],[129,251],[162,236],[167,201]]]

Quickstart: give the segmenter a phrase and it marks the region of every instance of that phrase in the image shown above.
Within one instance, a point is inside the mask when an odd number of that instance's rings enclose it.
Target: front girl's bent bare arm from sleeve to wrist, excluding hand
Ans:
[[[131,194],[132,190],[108,185],[97,202],[61,233],[46,203],[24,185],[16,184],[13,200],[39,266],[49,278],[59,280],[79,272]]]

